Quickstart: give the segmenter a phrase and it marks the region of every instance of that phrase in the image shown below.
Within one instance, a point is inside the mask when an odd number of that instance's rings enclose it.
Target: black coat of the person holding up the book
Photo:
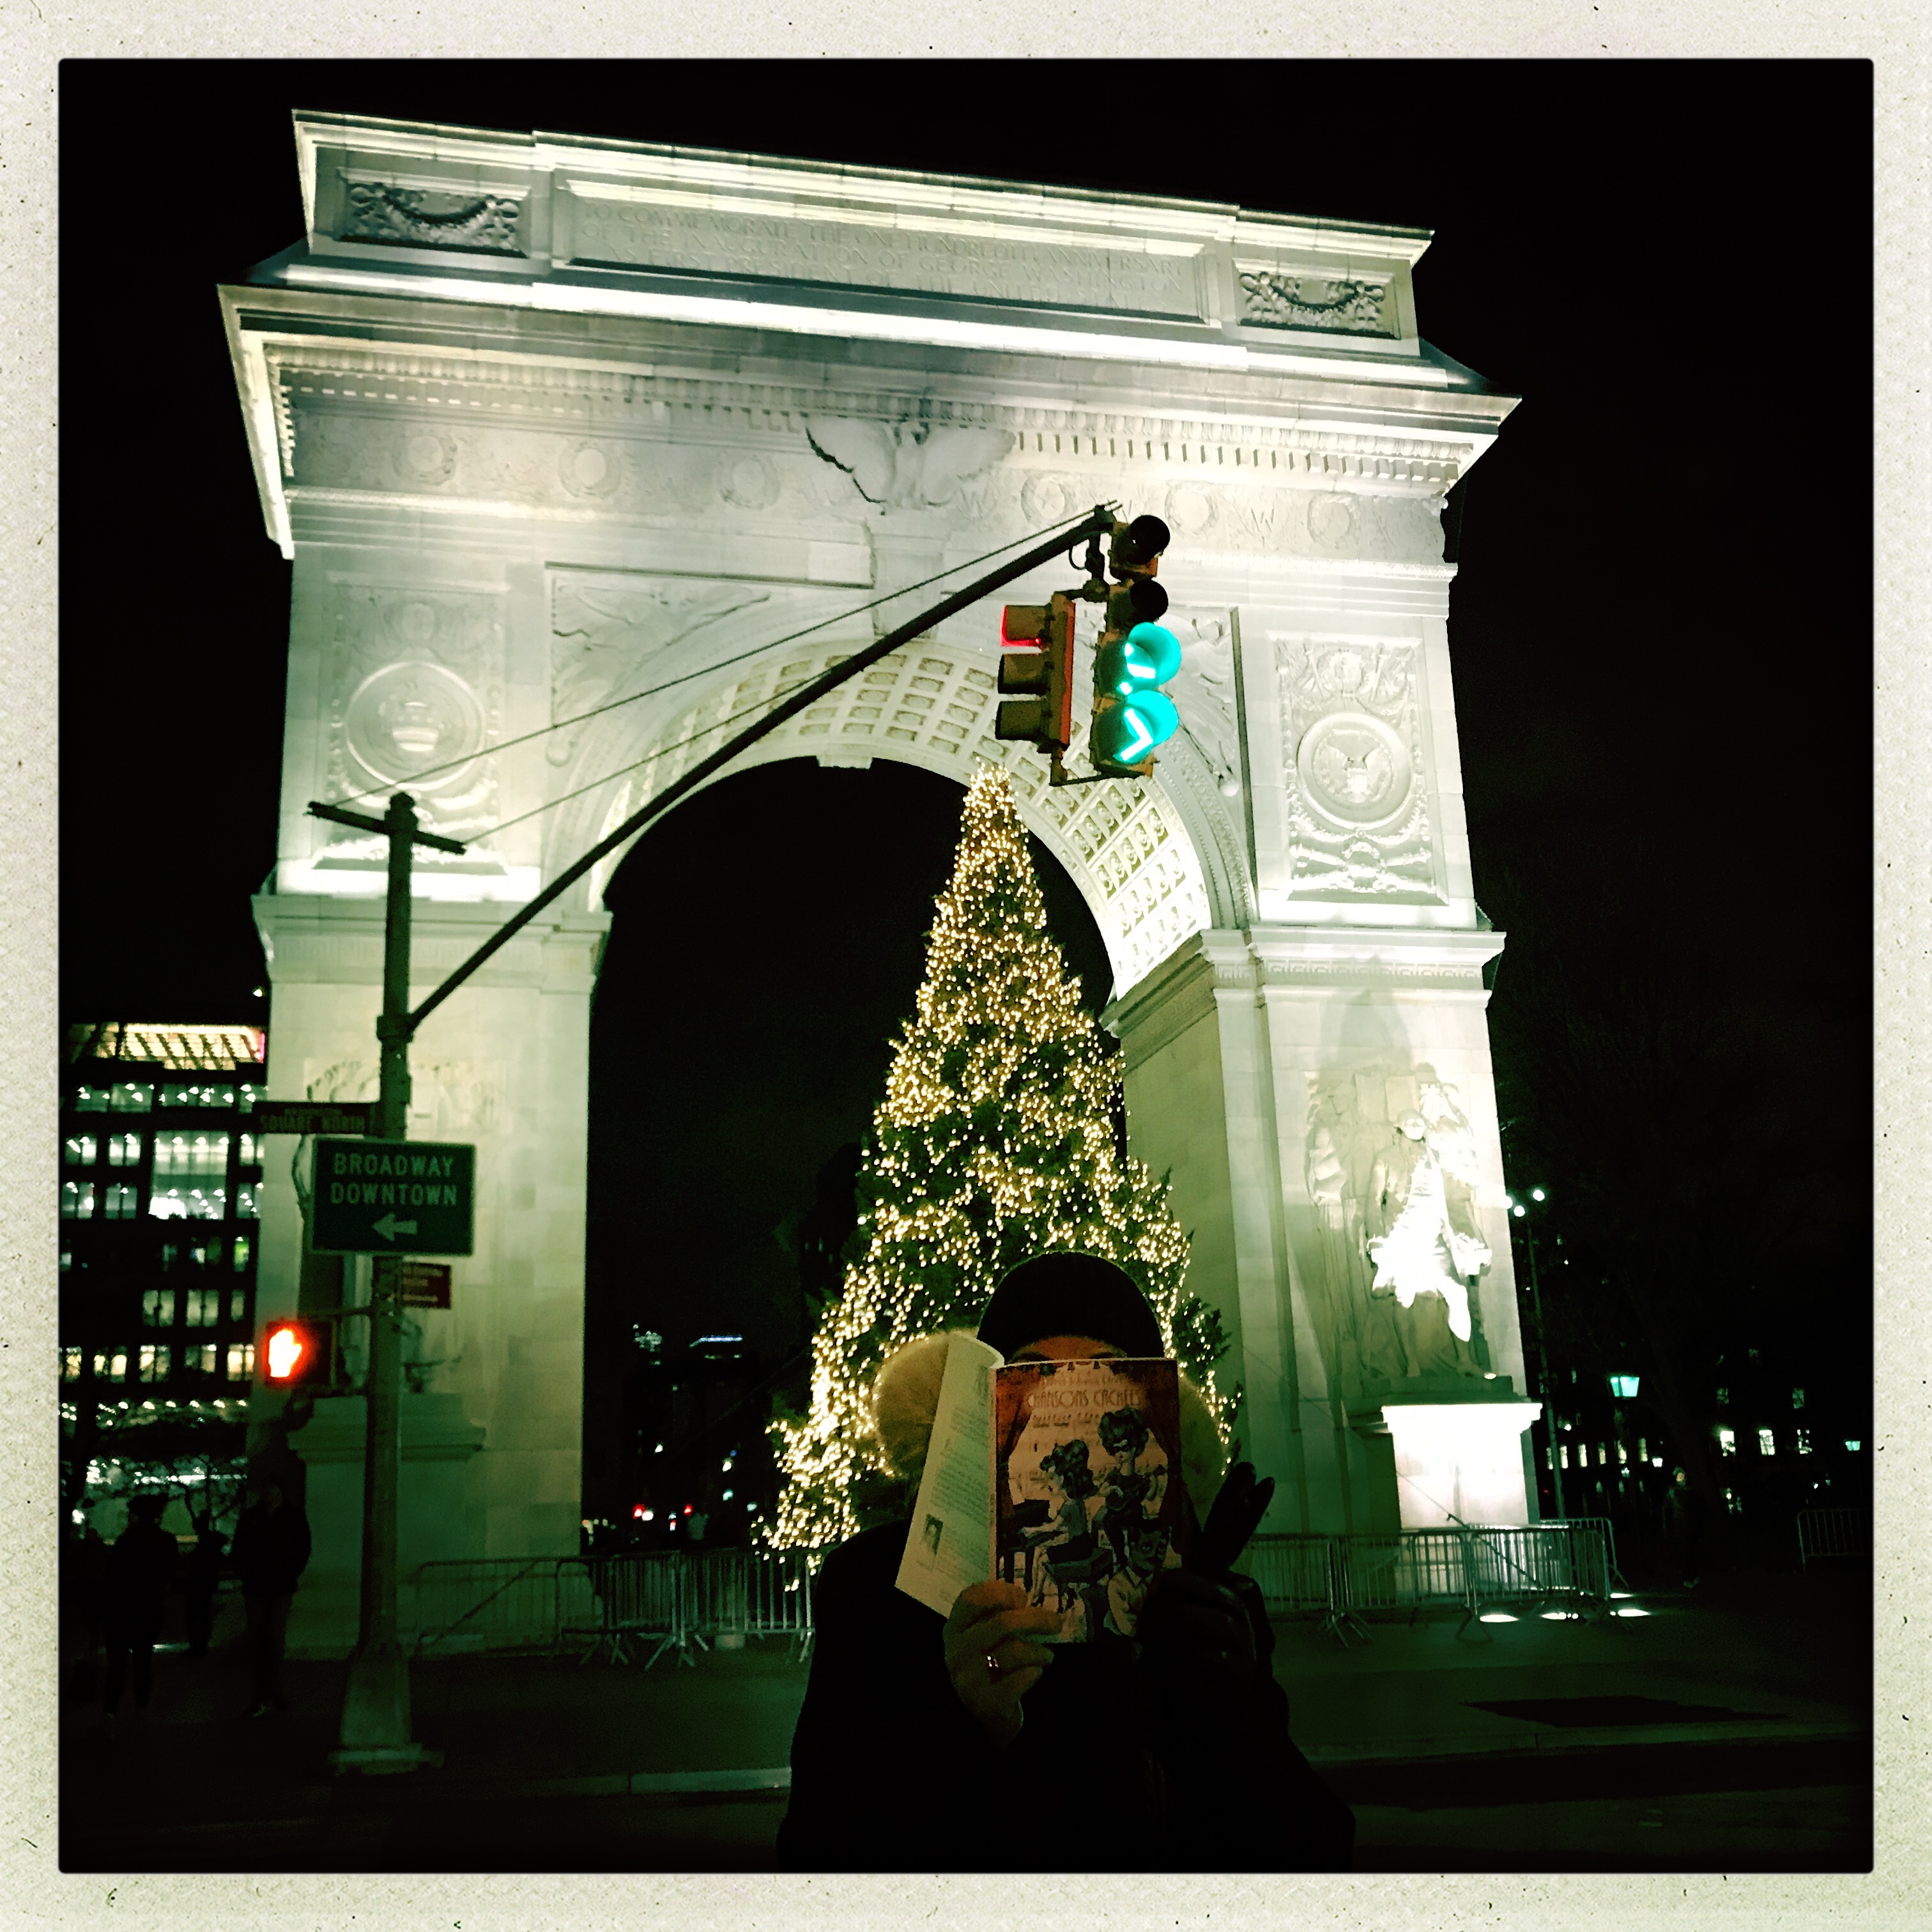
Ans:
[[[904,1522],[866,1530],[819,1571],[781,1866],[1349,1868],[1354,1818],[1289,1739],[1265,1656],[1209,1714],[1163,1704],[1126,1640],[1059,1646],[999,1750],[947,1677],[945,1619],[895,1586],[904,1546]]]

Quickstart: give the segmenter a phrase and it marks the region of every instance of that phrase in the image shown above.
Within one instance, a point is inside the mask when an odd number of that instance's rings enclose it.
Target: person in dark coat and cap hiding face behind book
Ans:
[[[1161,1509],[1161,1532],[1144,1520],[1138,1542],[1122,1538],[1115,1598],[1134,1636],[1117,1634],[1109,1617],[1099,1627],[1082,1619],[1088,1629],[1074,1634],[1090,1640],[1047,1642],[1070,1634],[1065,1619],[1030,1602],[1016,1575],[995,1575],[991,1522],[980,1580],[958,1590],[947,1613],[931,1588],[929,1602],[912,1594],[939,1551],[912,1536],[910,1484],[925,1478],[920,1511],[929,1515],[933,1418],[949,1401],[949,1362],[972,1350],[1005,1364],[1001,1374],[1041,1364],[1045,1378],[1057,1364],[1078,1364],[1068,1383],[1109,1374],[1094,1366],[1109,1362],[1121,1364],[1122,1385],[1128,1372],[1175,1376],[1161,1362],[1161,1329],[1146,1296],[1111,1262],[1088,1254],[1036,1256],[1009,1273],[981,1316],[978,1343],[964,1333],[923,1337],[885,1364],[877,1428],[895,1474],[908,1480],[908,1509],[840,1544],[819,1569],[781,1866],[1061,1870],[1057,1837],[1024,1830],[1028,1801],[1090,1768],[1095,1787],[1109,1793],[1109,1845],[1117,1847],[1097,1862],[1347,1870],[1354,1818],[1294,1748],[1260,1592],[1229,1571],[1273,1484],[1256,1482],[1248,1464],[1221,1480],[1213,1418],[1186,1378],[1179,1378],[1179,1439],[1163,1486],[1175,1493]],[[978,1376],[983,1387],[985,1370]],[[1157,1383],[1153,1374],[1142,1379]],[[1028,1426],[1045,1428],[1037,1412]],[[956,1449],[958,1430],[937,1434]],[[1122,1447],[1132,1434],[1109,1424]],[[1032,1439],[1014,1422],[1005,1447]],[[1142,1468],[1140,1457],[1136,1445],[1130,1474]],[[1057,1472],[1078,1461],[1057,1457]],[[1014,1455],[1012,1466],[1032,1474],[1026,1457]],[[1003,1464],[1003,1497],[1007,1488]],[[1065,1474],[1057,1488],[1065,1509],[1074,1499]],[[1092,1507],[1080,1501],[1086,1534],[1101,1559],[1111,1557]],[[1150,1513],[1146,1495],[1136,1493],[1132,1505]],[[949,1509],[949,1522],[956,1520]],[[1169,1524],[1180,1567],[1171,1567]],[[1097,1596],[1105,1605],[1107,1588]]]

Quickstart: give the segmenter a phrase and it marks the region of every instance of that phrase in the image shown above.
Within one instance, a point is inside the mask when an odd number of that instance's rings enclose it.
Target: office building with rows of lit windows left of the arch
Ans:
[[[255,1378],[257,1026],[75,1026],[60,1094],[70,1507],[102,1432],[245,1416]]]

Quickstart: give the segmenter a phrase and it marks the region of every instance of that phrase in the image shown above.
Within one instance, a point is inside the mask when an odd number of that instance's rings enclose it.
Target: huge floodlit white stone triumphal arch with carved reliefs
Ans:
[[[860,607],[1094,502],[1157,514],[1186,649],[1150,781],[1053,790],[993,738],[991,607],[746,763],[1007,769],[1111,956],[1130,1142],[1171,1169],[1188,1285],[1233,1339],[1242,1435],[1279,1478],[1267,1528],[1526,1520],[1484,1010],[1503,937],[1470,881],[1441,533],[1511,400],[1422,342],[1428,234],[562,135],[296,131],[307,238],[222,290],[294,560],[255,900],[270,1092],[375,1092],[383,852],[309,800],[408,786],[466,842],[417,854],[419,999],[724,719],[916,609]],[[479,1200],[458,1306],[425,1314],[448,1366],[404,1405],[404,1573],[578,1546],[589,999],[618,858],[415,1039],[410,1136],[475,1142]],[[303,1258],[301,1150],[274,1146],[265,1318],[342,1293]],[[1432,1269],[1453,1289],[1418,1293]],[[255,1391],[269,1432],[274,1403]],[[317,1538],[292,1642],[346,1650],[361,1403],[284,1424]]]

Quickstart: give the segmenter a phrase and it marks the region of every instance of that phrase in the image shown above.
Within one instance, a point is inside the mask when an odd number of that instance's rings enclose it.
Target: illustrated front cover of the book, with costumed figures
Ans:
[[[1132,1636],[1182,1557],[1173,1362],[1016,1362],[993,1374],[995,1561],[1061,1617],[1047,1642]]]

